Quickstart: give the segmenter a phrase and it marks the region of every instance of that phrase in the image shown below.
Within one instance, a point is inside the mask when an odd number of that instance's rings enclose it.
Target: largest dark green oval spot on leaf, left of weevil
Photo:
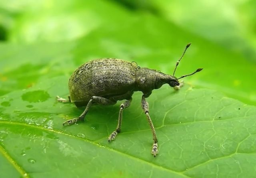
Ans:
[[[22,95],[22,100],[28,101],[30,103],[43,102],[49,98],[50,98],[50,95],[43,90],[29,91]]]

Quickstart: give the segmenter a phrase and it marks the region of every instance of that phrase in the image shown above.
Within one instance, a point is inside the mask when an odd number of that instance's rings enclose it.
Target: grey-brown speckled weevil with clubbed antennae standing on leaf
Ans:
[[[176,68],[189,46],[190,44],[186,45],[182,56],[176,62],[173,75],[146,67],[138,67],[136,62],[124,61],[122,59],[102,58],[84,63],[74,71],[69,79],[69,99],[57,96],[57,101],[63,103],[72,102],[76,107],[85,106],[86,108],[78,118],[69,119],[63,125],[72,125],[78,121],[84,121],[84,117],[94,103],[114,105],[118,100],[125,100],[120,105],[116,130],[108,137],[108,142],[110,142],[121,131],[122,113],[125,108],[130,106],[133,93],[135,91],[142,91],[141,106],[152,130],[154,143],[151,153],[156,157],[156,154],[158,154],[158,139],[149,115],[149,105],[146,98],[151,95],[152,90],[159,89],[166,83],[178,90],[182,87],[182,82],[180,83],[179,79],[202,70],[202,68],[199,68],[195,72],[182,75],[179,78],[174,76]]]

